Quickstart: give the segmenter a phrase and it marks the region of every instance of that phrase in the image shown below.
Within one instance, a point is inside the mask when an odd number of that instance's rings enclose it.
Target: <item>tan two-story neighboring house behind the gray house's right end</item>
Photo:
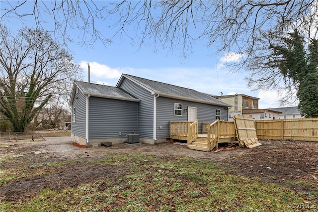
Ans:
[[[259,98],[250,97],[244,94],[217,96],[219,100],[231,105],[229,108],[229,120],[233,120],[234,115],[243,115],[243,109],[258,109]]]

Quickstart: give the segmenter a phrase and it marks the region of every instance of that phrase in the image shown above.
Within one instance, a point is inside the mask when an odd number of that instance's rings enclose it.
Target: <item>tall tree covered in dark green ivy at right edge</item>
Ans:
[[[284,87],[296,94],[302,115],[318,117],[318,40],[307,43],[295,31],[281,45],[270,44],[270,54],[254,61],[249,83],[259,89]]]

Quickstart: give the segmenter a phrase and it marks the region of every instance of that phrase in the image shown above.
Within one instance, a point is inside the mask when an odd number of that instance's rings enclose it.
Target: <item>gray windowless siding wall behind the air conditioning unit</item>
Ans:
[[[89,98],[89,138],[119,138],[137,133],[138,128],[138,102]]]

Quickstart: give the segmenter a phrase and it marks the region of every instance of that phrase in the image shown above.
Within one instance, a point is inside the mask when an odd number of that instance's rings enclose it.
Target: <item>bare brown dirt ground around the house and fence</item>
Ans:
[[[47,169],[52,174],[33,175],[1,185],[0,200],[31,198],[45,188],[63,190],[87,182],[89,179],[115,181],[119,176],[125,175],[127,166],[118,168],[96,163],[79,166],[78,163],[131,153],[150,154],[162,158],[186,156],[203,159],[209,163],[222,165],[237,175],[258,177],[266,182],[287,186],[300,192],[318,191],[318,142],[260,140],[260,143],[261,146],[252,149],[225,144],[220,145],[218,150],[203,152],[187,149],[184,144],[178,142],[79,148],[72,145],[70,137],[49,137],[34,142],[0,141],[0,169],[28,167],[25,172],[34,172],[36,170],[34,167],[40,163],[77,161],[62,166],[48,166]],[[1,160],[1,157],[9,155],[14,157]]]

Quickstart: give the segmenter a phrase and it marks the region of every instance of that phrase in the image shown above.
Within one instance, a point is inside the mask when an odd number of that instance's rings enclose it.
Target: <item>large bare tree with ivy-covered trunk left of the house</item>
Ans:
[[[79,66],[47,31],[22,28],[13,35],[0,25],[0,112],[14,131],[25,131],[34,115],[61,88],[72,85]]]

